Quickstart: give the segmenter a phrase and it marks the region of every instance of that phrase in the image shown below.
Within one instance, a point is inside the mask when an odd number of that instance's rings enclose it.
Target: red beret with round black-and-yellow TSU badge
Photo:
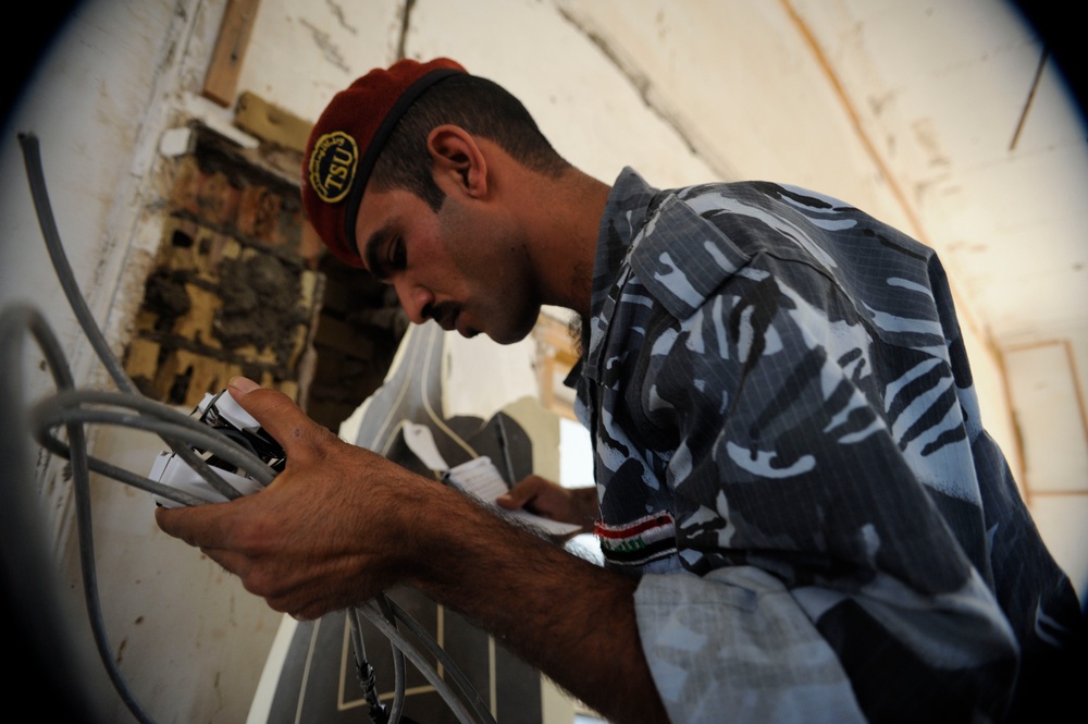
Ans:
[[[448,58],[375,68],[336,94],[310,132],[302,157],[302,205],[329,250],[362,267],[355,238],[359,203],[385,142],[419,96],[465,73]]]

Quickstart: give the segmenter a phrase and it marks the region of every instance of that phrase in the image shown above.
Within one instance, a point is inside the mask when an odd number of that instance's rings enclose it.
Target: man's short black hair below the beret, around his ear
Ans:
[[[445,194],[434,183],[426,137],[446,123],[498,144],[532,171],[556,177],[570,168],[520,100],[497,83],[466,73],[436,83],[408,108],[374,163],[374,187],[404,188],[434,211],[442,208]]]

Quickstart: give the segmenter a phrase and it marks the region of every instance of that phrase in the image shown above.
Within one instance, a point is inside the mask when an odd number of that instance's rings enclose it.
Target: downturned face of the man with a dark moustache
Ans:
[[[368,188],[356,240],[367,269],[396,289],[411,321],[509,344],[532,330],[541,304],[523,240],[510,229],[455,197],[435,213],[410,192]]]

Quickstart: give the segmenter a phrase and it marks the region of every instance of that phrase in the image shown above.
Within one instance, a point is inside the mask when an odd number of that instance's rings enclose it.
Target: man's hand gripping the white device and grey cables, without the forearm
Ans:
[[[344,443],[280,392],[244,378],[230,391],[283,446],[286,468],[265,490],[231,503],[160,507],[159,526],[298,618],[361,603],[410,577],[417,552],[400,512],[441,487]]]

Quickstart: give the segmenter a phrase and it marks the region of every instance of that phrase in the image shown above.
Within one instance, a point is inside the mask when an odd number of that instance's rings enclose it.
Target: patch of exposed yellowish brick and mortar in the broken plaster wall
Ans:
[[[154,284],[149,285],[151,296],[146,302],[151,306],[136,317],[137,333],[126,357],[129,373],[150,380],[145,388],[153,388],[161,398],[191,406],[205,392],[221,390],[231,377],[240,373],[297,398],[298,375],[309,376],[318,368],[316,375],[325,394],[316,395],[318,385],[314,384],[308,396],[317,398],[330,415],[337,417],[325,424],[338,425],[338,419],[381,383],[396,344],[386,331],[362,324],[351,316],[358,310],[385,306],[387,302],[381,294],[383,287],[343,269],[343,279],[338,278],[341,286],[331,289],[325,279],[325,273],[331,272],[319,271],[319,265],[323,266],[327,255],[313,228],[305,223],[297,188],[277,181],[275,174],[247,167],[247,161],[240,158],[233,159],[230,149],[213,144],[201,144],[200,149],[198,155],[209,154],[205,160],[187,157],[176,165],[160,245],[158,277]],[[232,167],[235,161],[237,165]],[[251,323],[259,316],[250,316],[245,298],[232,299],[227,292],[237,291],[232,285],[249,283],[243,280],[243,277],[249,279],[246,275],[249,270],[244,273],[237,263],[224,263],[226,259],[263,257],[264,245],[279,248],[275,258],[286,262],[285,269],[292,273],[299,272],[289,261],[294,254],[308,267],[298,273],[300,315],[287,315],[283,321],[270,323],[269,327],[282,335],[279,341],[271,342],[260,335],[249,336],[245,322]],[[263,263],[257,268],[268,275]],[[262,289],[261,279],[254,277],[252,290]],[[290,283],[294,289],[294,279]],[[272,287],[265,284],[265,291],[260,293],[264,296],[260,297],[259,311],[271,309],[280,300],[277,296],[268,296],[268,289],[287,287],[279,282]],[[326,345],[321,346],[318,354],[314,352],[318,345],[308,345],[308,342],[313,336],[317,308],[329,302],[330,295],[335,297],[333,315],[325,321],[323,342]],[[180,304],[185,296],[188,304]],[[240,316],[238,311],[225,314],[239,302]],[[181,316],[175,319],[163,315]],[[218,316],[222,317],[219,326],[215,323]],[[238,329],[233,329],[238,324]],[[224,339],[236,340],[234,344],[249,339],[267,346],[257,349],[250,343],[228,349],[217,330]],[[151,334],[153,339],[148,339]],[[207,348],[213,356],[201,354],[200,348]],[[281,355],[279,359],[277,354]],[[302,368],[305,370],[299,371]]]

